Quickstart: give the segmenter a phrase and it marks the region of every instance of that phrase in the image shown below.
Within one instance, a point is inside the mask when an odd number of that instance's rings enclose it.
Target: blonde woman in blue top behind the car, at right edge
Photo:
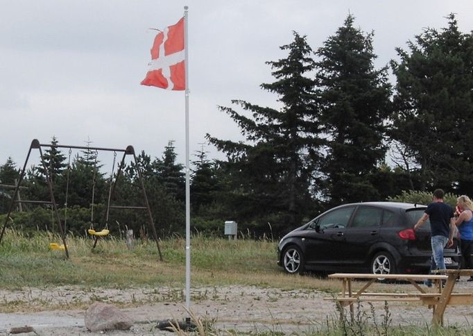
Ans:
[[[470,197],[462,195],[456,199],[456,205],[458,210],[460,210],[460,214],[456,217],[455,225],[460,232],[462,268],[473,269],[473,202]],[[473,276],[467,281],[473,281]]]

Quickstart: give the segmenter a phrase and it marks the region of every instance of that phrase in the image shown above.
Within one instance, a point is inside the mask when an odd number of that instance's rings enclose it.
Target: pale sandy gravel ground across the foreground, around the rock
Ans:
[[[388,286],[388,285],[386,285]],[[408,285],[397,290],[411,291]],[[461,281],[456,290],[471,290],[472,283]],[[210,321],[219,329],[240,331],[281,331],[302,333],[317,330],[327,321],[338,319],[332,301],[323,300],[326,293],[296,289],[282,291],[257,287],[205,287],[192,289],[191,312]],[[107,335],[169,335],[153,328],[163,319],[182,320],[189,314],[182,303],[182,289],[83,289],[58,287],[54,289],[0,290],[0,335],[11,328],[33,326],[38,335],[102,335],[89,333],[84,326],[83,313],[94,301],[103,301],[129,314],[135,325],[131,330],[109,331]],[[71,310],[83,306],[83,310]],[[24,312],[17,312],[15,307]],[[25,308],[26,306],[26,308]],[[363,310],[371,317],[370,306]],[[10,312],[15,311],[15,312]],[[384,303],[375,305],[376,318],[382,320]],[[390,303],[393,325],[424,325],[431,321],[431,310],[418,303]],[[472,325],[473,312],[469,306],[447,307],[445,324]]]

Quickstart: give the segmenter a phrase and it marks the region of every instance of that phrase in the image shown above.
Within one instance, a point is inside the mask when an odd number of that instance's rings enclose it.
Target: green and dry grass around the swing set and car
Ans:
[[[160,241],[160,261],[152,240],[135,240],[127,249],[124,240],[107,237],[92,249],[89,237],[68,237],[70,258],[63,251],[50,251],[58,235],[37,233],[25,237],[7,230],[0,244],[0,289],[27,289],[74,285],[78,287],[182,287],[185,281],[185,241],[182,237]],[[279,289],[318,289],[338,292],[340,284],[315,275],[291,276],[276,264],[277,242],[226,240],[193,235],[191,283],[193,286],[253,285]],[[383,290],[382,285],[375,290]],[[17,307],[21,310],[21,307]],[[386,310],[386,316],[389,312]],[[473,335],[473,328],[390,326],[388,319],[372,328],[363,320],[327,321],[327,326],[308,335]],[[371,327],[370,327],[371,326]],[[212,333],[209,333],[209,335]],[[226,334],[225,334],[226,335]],[[252,335],[268,335],[252,333]]]

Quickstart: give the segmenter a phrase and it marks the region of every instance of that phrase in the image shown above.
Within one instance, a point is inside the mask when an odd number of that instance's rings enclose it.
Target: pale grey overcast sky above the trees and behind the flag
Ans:
[[[456,13],[473,30],[471,0],[0,0],[0,165],[22,167],[31,140],[125,148],[161,157],[173,140],[184,163],[184,92],[139,85],[155,31],[178,22],[189,6],[191,160],[210,133],[239,140],[239,128],[217,106],[244,99],[275,106],[262,91],[271,83],[268,60],[293,33],[313,50],[343,25],[374,31],[376,66],[397,58],[395,47],[444,28]],[[209,158],[223,158],[205,146]],[[37,152],[33,153],[37,155]],[[74,155],[74,153],[73,153]],[[102,161],[109,160],[103,156]]]

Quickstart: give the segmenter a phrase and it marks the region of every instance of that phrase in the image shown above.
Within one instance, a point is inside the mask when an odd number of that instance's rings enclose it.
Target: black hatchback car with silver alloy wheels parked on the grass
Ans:
[[[430,222],[414,224],[426,205],[367,202],[340,205],[285,235],[277,264],[288,273],[342,271],[424,274],[431,257]],[[456,246],[445,249],[447,268],[457,268]]]

